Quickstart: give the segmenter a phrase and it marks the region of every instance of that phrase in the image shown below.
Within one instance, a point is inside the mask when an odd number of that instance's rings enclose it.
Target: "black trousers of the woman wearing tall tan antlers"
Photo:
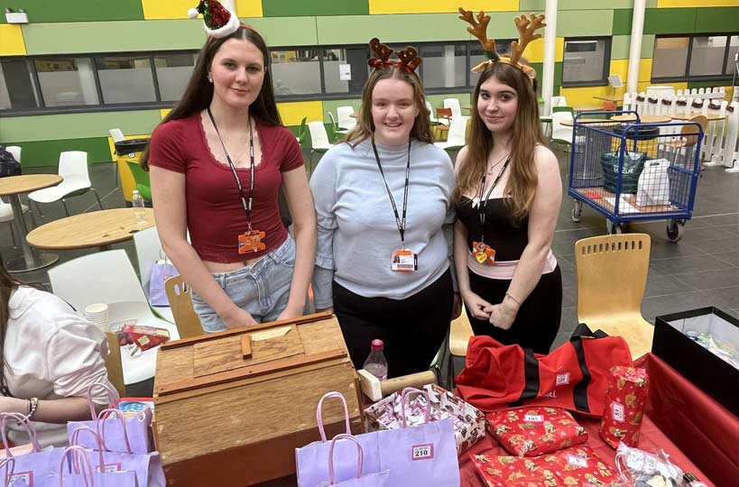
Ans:
[[[503,302],[510,280],[495,280],[469,273],[472,292],[490,304]],[[539,283],[523,301],[513,326],[507,330],[496,328],[487,320],[473,317],[467,310],[469,323],[475,335],[492,336],[503,345],[521,345],[537,354],[549,354],[557,338],[562,317],[562,273],[559,265],[548,274],[542,274]]]

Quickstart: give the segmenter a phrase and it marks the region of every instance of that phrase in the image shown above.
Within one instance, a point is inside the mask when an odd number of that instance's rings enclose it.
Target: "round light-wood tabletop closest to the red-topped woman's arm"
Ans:
[[[71,250],[100,247],[125,242],[134,234],[154,226],[154,210],[144,208],[146,223],[138,224],[134,208],[115,208],[68,216],[42,225],[26,237],[28,243],[40,249]]]

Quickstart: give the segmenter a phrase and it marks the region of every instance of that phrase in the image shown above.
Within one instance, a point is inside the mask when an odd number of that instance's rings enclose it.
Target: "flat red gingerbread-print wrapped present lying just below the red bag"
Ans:
[[[512,455],[543,455],[587,441],[585,428],[565,409],[506,409],[487,419],[490,432]]]

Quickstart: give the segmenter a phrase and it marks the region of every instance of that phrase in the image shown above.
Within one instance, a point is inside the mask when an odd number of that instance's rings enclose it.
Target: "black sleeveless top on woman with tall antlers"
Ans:
[[[457,203],[457,218],[467,229],[467,249],[470,249],[473,242],[480,241],[482,234],[479,208],[472,207],[470,198],[462,197],[461,203]],[[488,199],[485,208],[485,243],[494,248],[496,261],[518,261],[529,244],[529,217],[523,218],[521,225],[513,226],[504,199]]]

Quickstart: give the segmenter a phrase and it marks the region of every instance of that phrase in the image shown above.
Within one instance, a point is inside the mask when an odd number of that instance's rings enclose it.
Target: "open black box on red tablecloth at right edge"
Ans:
[[[739,348],[739,320],[717,308],[657,317],[651,351],[739,417],[739,369],[686,335],[710,334]]]

